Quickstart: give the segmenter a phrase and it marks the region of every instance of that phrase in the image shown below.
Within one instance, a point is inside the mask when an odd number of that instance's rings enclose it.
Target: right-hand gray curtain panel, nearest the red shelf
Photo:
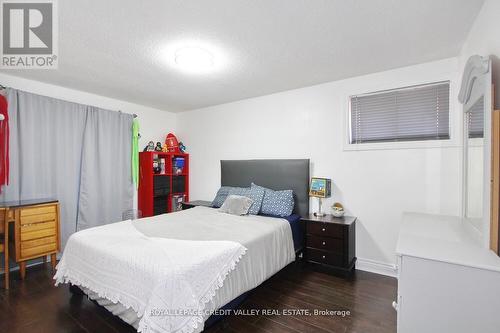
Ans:
[[[77,229],[121,221],[132,208],[132,116],[89,107],[81,164]]]

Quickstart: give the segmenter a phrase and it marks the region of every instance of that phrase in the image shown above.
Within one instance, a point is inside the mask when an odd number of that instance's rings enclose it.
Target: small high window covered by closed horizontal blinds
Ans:
[[[350,143],[450,138],[450,82],[350,97]]]

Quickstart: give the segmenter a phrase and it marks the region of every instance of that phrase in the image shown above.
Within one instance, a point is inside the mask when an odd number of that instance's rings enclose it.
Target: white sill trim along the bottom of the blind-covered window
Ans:
[[[367,150],[398,150],[398,149],[435,149],[435,148],[459,148],[460,144],[455,140],[426,140],[426,141],[402,141],[402,142],[374,142],[374,143],[344,143],[343,151],[367,151]]]

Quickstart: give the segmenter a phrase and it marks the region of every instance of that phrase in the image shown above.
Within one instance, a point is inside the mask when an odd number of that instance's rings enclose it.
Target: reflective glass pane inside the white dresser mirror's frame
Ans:
[[[465,216],[481,228],[484,192],[484,96],[465,111]]]

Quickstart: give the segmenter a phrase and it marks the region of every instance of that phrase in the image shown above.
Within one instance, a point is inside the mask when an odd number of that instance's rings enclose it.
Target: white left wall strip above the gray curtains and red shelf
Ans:
[[[59,98],[65,101],[93,105],[103,109],[122,111],[125,113],[135,113],[138,116],[140,124],[140,150],[142,150],[150,140],[163,143],[166,134],[168,132],[174,132],[176,128],[176,117],[174,113],[150,108],[144,105],[129,103],[39,81],[27,80],[5,73],[0,73],[0,84],[39,95]],[[113,145],[112,142],[109,144],[110,146]],[[134,194],[134,207],[137,207],[137,192]]]

